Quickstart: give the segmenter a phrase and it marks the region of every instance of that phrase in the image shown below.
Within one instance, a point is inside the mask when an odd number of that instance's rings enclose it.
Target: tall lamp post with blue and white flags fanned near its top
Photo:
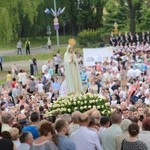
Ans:
[[[54,16],[54,29],[56,30],[56,38],[57,38],[57,46],[59,47],[59,21],[58,21],[58,16],[60,14],[62,14],[65,10],[65,7],[63,9],[59,8],[57,10],[57,7],[56,7],[56,0],[54,0],[54,10],[51,8],[50,10],[48,8],[45,9],[45,13],[46,14],[51,14]]]

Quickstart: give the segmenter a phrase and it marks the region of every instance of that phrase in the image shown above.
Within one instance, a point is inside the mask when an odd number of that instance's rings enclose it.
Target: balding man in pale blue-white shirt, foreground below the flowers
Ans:
[[[71,141],[75,143],[76,150],[102,150],[98,135],[87,128],[88,123],[88,116],[81,114],[79,117],[80,127],[71,134]]]

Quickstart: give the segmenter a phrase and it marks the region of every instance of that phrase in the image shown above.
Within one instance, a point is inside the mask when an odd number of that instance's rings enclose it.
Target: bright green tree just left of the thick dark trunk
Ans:
[[[108,0],[104,9],[104,30],[112,32],[114,23],[118,23],[119,31],[129,30],[128,7],[124,0]]]

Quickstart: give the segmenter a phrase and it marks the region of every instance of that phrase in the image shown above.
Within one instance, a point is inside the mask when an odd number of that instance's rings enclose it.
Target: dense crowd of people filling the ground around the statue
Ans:
[[[110,59],[95,62],[92,67],[83,65],[79,52],[76,56],[84,92],[105,97],[110,103],[111,116],[101,116],[95,108],[85,113],[45,116],[51,103],[67,94],[66,87],[62,88],[65,69],[58,51],[52,60],[43,64],[39,78],[34,72],[27,77],[16,64],[8,72],[0,93],[0,147],[8,149],[9,146],[10,150],[150,149],[149,51],[114,50]]]

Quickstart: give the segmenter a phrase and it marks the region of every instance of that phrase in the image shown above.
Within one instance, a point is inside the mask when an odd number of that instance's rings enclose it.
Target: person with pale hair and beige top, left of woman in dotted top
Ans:
[[[124,139],[127,139],[129,136],[128,133],[128,127],[132,122],[129,119],[124,119],[122,120],[120,127],[122,129],[122,133],[118,134],[116,136],[116,150],[120,150],[121,149],[121,143]]]

